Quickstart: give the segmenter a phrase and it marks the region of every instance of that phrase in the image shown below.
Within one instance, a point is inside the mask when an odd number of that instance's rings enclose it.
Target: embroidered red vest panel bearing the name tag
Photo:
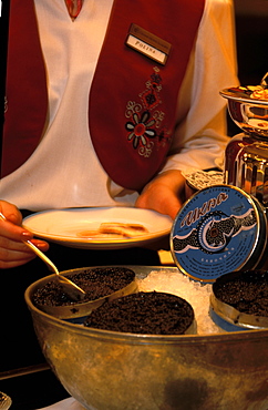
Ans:
[[[204,0],[114,2],[91,89],[90,131],[104,170],[126,188],[142,189],[169,148],[203,10]],[[132,22],[172,44],[164,66],[125,45]],[[140,111],[128,116],[133,103]]]

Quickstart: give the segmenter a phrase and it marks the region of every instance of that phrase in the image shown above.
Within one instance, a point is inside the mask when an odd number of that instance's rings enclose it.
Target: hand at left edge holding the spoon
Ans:
[[[49,244],[33,239],[33,235],[21,226],[22,216],[19,209],[4,201],[0,201],[0,269],[23,265],[35,257],[35,254],[22,243],[32,240],[41,250],[48,250]]]

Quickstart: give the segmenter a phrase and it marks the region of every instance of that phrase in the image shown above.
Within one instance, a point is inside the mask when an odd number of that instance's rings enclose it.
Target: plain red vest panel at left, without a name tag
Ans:
[[[33,153],[47,117],[45,71],[32,0],[10,1],[6,95],[2,176]]]

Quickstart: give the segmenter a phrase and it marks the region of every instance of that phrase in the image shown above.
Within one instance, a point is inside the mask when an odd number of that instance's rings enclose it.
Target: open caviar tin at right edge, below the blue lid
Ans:
[[[268,328],[268,271],[236,271],[213,284],[209,315],[226,331]]]

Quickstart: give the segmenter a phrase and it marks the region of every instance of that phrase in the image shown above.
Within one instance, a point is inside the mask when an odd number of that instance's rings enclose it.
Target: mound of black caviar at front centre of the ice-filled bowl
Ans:
[[[194,320],[192,306],[178,296],[140,291],[106,301],[84,326],[143,335],[182,335]]]

